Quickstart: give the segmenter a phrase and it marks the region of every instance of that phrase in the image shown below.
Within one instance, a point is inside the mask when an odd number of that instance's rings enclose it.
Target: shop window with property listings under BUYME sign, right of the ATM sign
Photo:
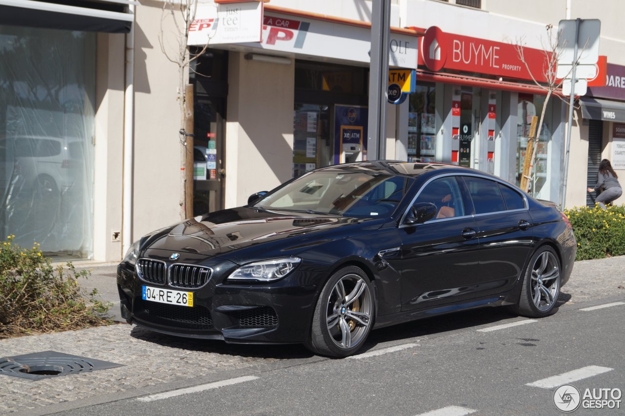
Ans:
[[[434,162],[436,155],[436,93],[434,84],[418,85],[410,94],[408,113],[409,162]]]

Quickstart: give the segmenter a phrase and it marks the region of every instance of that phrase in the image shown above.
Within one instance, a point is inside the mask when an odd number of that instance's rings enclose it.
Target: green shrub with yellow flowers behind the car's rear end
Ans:
[[[576,260],[625,254],[625,206],[574,207],[564,214],[577,239]]]

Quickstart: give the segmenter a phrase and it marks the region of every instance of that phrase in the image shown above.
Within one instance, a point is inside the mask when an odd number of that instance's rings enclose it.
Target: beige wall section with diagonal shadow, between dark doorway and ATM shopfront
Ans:
[[[230,52],[226,208],[292,177],[294,69]]]

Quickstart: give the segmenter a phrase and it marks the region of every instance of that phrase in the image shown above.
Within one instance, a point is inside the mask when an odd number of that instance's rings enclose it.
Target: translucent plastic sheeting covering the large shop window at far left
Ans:
[[[93,252],[93,33],[0,26],[0,232]]]

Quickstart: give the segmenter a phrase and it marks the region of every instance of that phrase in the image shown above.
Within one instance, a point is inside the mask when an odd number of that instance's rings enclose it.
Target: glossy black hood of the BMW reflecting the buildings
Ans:
[[[296,249],[311,244],[308,237],[322,231],[379,220],[337,217],[324,214],[276,212],[249,207],[237,207],[187,219],[168,229],[160,230],[146,241],[143,248],[189,252],[216,257],[254,245],[290,239],[284,249]],[[371,224],[373,225],[373,224]],[[342,237],[348,234],[341,233]],[[331,239],[315,234],[318,239]],[[310,241],[309,241],[310,240]]]

